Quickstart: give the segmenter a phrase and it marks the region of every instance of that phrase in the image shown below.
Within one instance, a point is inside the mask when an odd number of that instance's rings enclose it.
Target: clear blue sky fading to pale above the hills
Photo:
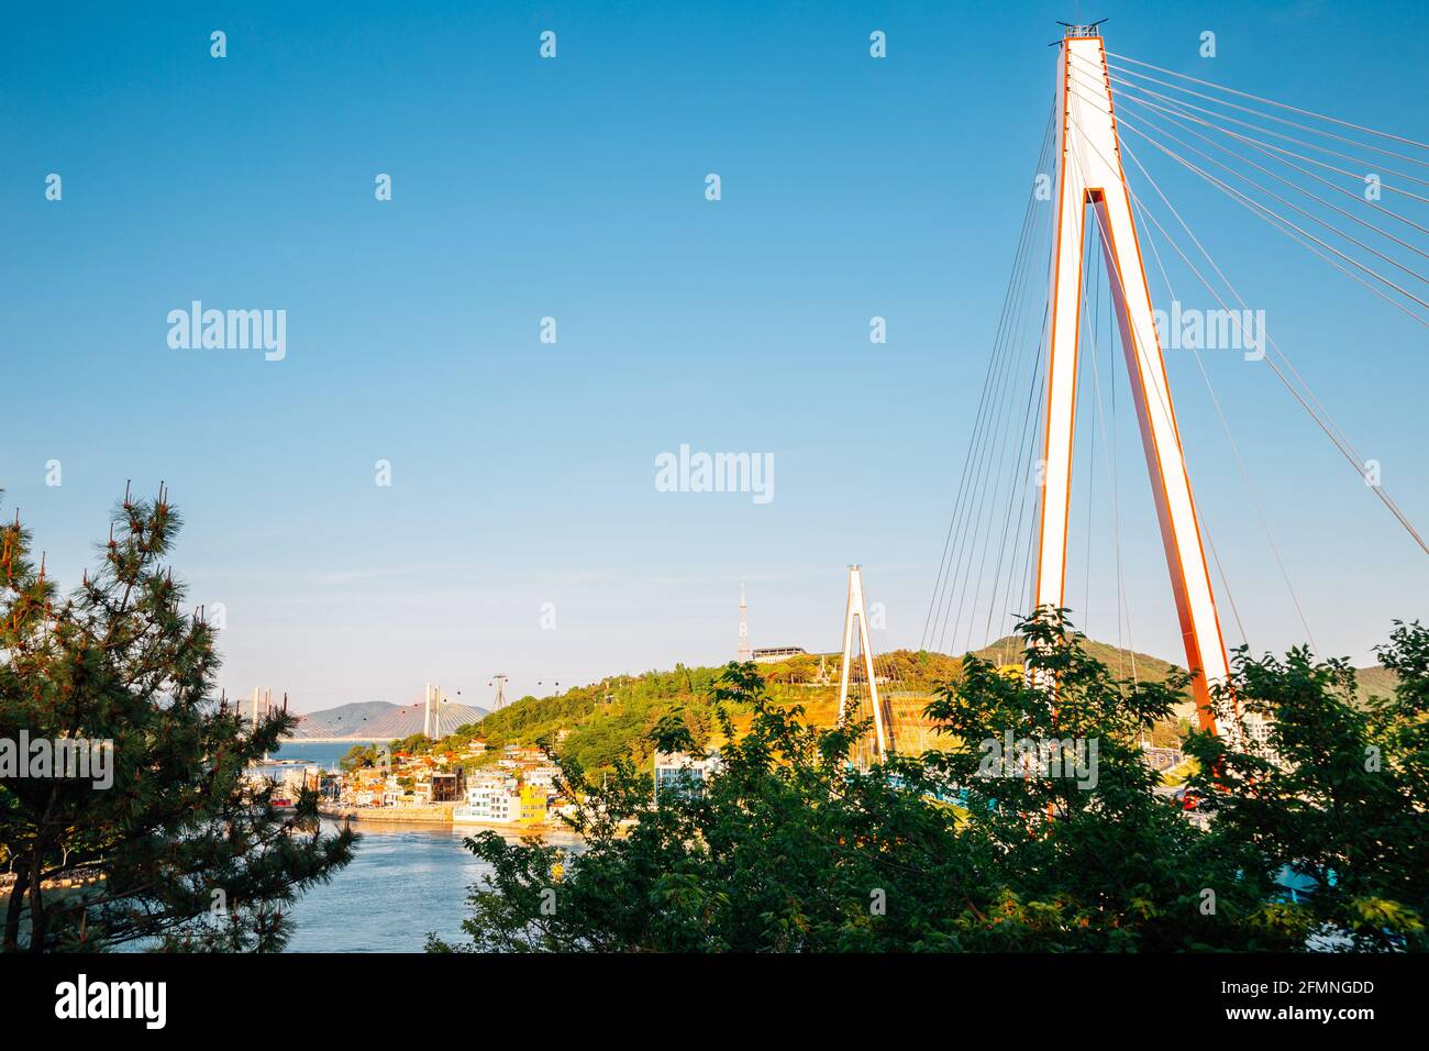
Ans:
[[[1076,7],[14,9],[3,510],[20,506],[69,585],[124,480],[164,479],[187,518],[177,571],[194,602],[227,608],[223,685],[286,689],[299,709],[412,701],[424,681],[484,704],[493,672],[519,695],[729,659],[742,581],[756,645],[836,648],[849,562],[887,606],[879,645],[916,645],[1052,94],[1047,43]],[[1419,3],[1082,14],[1110,17],[1115,51],[1429,139]],[[1208,29],[1213,61],[1196,54]],[[1429,522],[1425,330],[1185,187],[1228,273]],[[286,360],[170,349],[167,312],[193,299],[286,309]],[[1282,649],[1303,632],[1245,485],[1193,363],[1169,367],[1250,642]],[[1316,641],[1366,662],[1392,618],[1429,613],[1429,559],[1265,369],[1208,367]],[[680,443],[772,453],[775,499],[657,493],[654,456]],[[1135,642],[1180,659],[1126,449]],[[1079,619],[1105,638],[1113,616]]]

